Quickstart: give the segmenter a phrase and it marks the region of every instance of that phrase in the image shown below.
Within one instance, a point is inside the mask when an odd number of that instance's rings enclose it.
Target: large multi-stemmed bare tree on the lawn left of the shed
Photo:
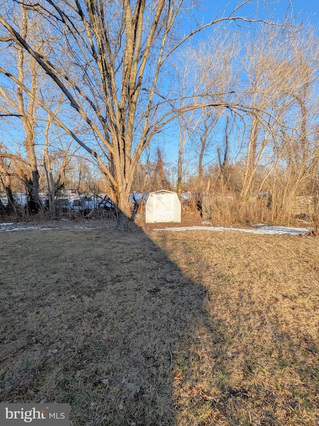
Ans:
[[[108,177],[119,209],[117,229],[127,228],[134,173],[150,140],[181,111],[207,104],[198,97],[181,110],[172,106],[175,90],[168,58],[195,34],[222,21],[267,22],[237,14],[249,2],[183,35],[178,28],[187,8],[183,0],[26,0],[23,4],[34,20],[45,17],[43,33],[59,34],[54,49],[45,46],[47,54],[15,27],[14,1],[0,16],[3,42],[13,39],[35,59],[91,130],[92,143],[86,143],[70,123],[40,102]],[[0,71],[35,97],[9,70],[2,67]],[[220,100],[208,101],[211,106],[219,104]]]

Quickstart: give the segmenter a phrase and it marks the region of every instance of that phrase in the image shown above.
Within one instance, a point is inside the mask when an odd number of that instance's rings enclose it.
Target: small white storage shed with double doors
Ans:
[[[160,189],[150,192],[145,207],[146,223],[180,222],[181,207],[176,192]]]

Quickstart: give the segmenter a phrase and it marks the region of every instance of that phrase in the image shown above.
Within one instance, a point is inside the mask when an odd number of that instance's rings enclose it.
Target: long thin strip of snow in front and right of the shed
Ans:
[[[255,225],[257,226],[257,225]],[[245,228],[227,228],[224,226],[184,226],[176,228],[156,228],[155,231],[239,231],[248,232],[251,234],[307,234],[308,228],[291,228],[286,226],[266,226],[259,225],[257,229],[245,229]]]

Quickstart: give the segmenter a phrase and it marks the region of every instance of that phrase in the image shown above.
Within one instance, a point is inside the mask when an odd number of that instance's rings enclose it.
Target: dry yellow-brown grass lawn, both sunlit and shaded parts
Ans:
[[[319,425],[318,238],[93,223],[0,245],[1,402],[68,403],[72,425]]]

